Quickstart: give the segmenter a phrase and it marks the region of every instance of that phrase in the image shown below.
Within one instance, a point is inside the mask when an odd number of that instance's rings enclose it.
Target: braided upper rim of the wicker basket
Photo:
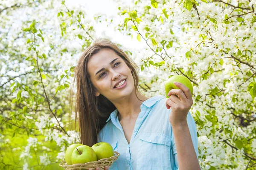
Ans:
[[[61,161],[61,163],[59,164],[59,166],[61,166],[61,167],[81,167],[81,166],[83,166],[83,167],[86,167],[87,165],[88,166],[91,166],[92,164],[101,164],[102,162],[105,162],[105,161],[107,161],[107,160],[109,160],[109,159],[114,159],[114,161],[116,161],[116,159],[118,158],[120,156],[120,153],[118,153],[118,152],[116,152],[116,151],[114,151],[114,156],[111,156],[111,157],[109,157],[109,158],[103,158],[103,159],[100,159],[100,160],[98,160],[98,161],[91,161],[91,162],[87,162],[87,163],[85,163],[85,164],[72,164],[72,165],[68,165],[68,164],[66,164],[66,161],[65,160],[63,160],[63,161]],[[113,161],[113,162],[114,162]],[[104,164],[104,163],[103,163]]]

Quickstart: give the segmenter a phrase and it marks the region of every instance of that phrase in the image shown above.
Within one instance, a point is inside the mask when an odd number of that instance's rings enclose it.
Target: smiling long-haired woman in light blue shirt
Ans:
[[[200,170],[189,89],[177,83],[169,99],[143,96],[138,70],[109,40],[83,52],[74,72],[81,143],[110,143],[120,156],[109,170]]]

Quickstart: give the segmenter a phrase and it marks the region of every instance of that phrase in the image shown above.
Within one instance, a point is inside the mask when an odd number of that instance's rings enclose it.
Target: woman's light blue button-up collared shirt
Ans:
[[[162,95],[142,103],[130,144],[119,123],[117,109],[111,113],[98,137],[98,142],[108,142],[120,153],[109,170],[178,170],[175,139],[169,122],[171,109],[167,109],[165,103],[166,98]],[[190,112],[187,123],[198,157],[197,130]]]

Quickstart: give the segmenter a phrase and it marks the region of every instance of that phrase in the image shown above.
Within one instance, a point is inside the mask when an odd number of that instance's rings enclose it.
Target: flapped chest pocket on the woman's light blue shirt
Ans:
[[[138,170],[172,170],[169,136],[163,133],[143,133],[139,139]]]

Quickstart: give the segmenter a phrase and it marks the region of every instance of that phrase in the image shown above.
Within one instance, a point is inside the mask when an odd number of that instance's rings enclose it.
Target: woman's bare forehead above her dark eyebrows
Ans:
[[[97,71],[103,67],[108,67],[109,63],[116,58],[120,59],[121,57],[109,48],[102,49],[97,54],[91,56],[87,65],[90,76],[94,77]]]

